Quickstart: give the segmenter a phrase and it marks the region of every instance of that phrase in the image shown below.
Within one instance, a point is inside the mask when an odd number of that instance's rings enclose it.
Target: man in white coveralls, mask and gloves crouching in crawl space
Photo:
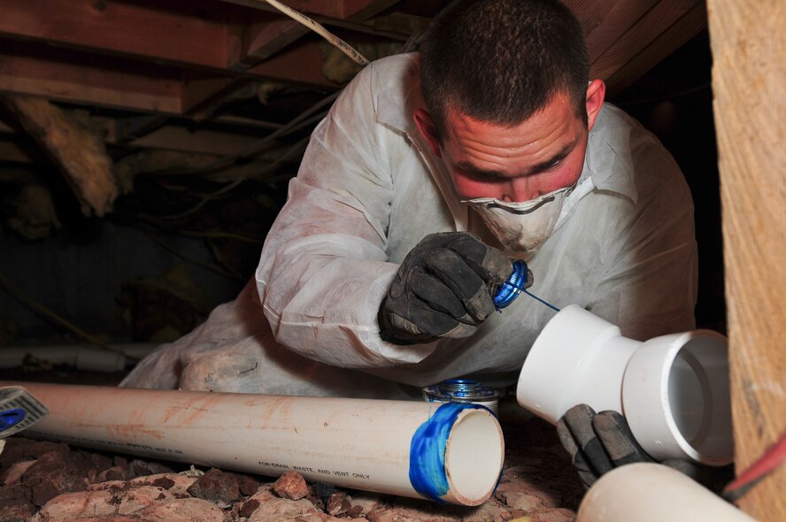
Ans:
[[[494,311],[511,258],[536,295],[628,337],[693,328],[689,189],[604,98],[562,4],[457,0],[420,54],[368,65],[314,130],[256,288],[123,384],[391,398],[459,376],[505,387],[554,314],[528,296]]]

